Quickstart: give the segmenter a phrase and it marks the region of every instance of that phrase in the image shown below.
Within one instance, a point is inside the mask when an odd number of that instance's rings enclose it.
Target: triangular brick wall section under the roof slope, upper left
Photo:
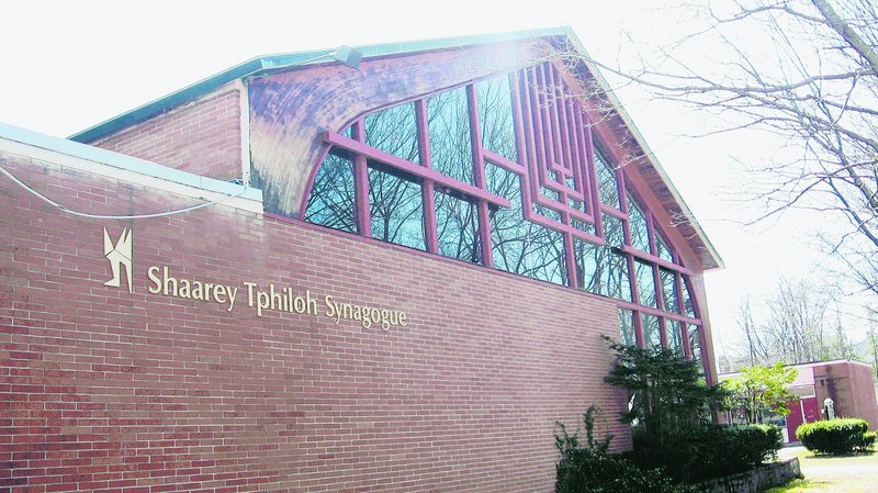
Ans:
[[[183,171],[241,178],[240,96],[222,91],[91,143]]]

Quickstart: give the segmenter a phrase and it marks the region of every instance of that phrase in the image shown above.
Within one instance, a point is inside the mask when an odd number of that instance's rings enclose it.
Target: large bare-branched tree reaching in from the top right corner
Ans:
[[[683,8],[700,21],[694,32],[637,66],[585,63],[714,116],[719,132],[774,134],[787,153],[762,168],[769,180],[755,194],[765,216],[807,208],[843,219],[826,221],[831,250],[878,294],[876,3],[696,0]]]

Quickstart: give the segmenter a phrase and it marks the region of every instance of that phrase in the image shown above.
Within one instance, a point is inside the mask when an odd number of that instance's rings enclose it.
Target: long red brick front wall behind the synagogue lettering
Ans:
[[[191,203],[4,166],[79,210]],[[224,206],[97,221],[0,195],[0,491],[550,492],[554,422],[589,404],[630,445],[601,381],[611,302]],[[103,285],[104,226],[133,227],[134,293]],[[236,306],[150,294],[149,266],[237,285]],[[409,323],[260,318],[244,281]]]

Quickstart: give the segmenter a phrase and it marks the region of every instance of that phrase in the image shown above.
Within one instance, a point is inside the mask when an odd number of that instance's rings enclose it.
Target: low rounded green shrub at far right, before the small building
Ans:
[[[868,448],[875,442],[875,434],[869,439],[868,432],[865,419],[847,417],[806,423],[796,429],[796,438],[812,452],[837,456]]]

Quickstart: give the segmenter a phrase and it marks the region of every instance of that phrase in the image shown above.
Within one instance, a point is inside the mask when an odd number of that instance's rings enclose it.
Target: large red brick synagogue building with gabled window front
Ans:
[[[566,29],[259,57],[0,125],[0,491],[534,492],[600,336],[721,267]]]

